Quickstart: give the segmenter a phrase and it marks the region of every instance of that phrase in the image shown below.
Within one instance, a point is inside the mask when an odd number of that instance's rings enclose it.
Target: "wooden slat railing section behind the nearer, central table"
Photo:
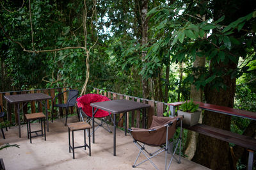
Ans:
[[[136,101],[136,102],[141,102],[143,104],[151,105],[151,107],[148,109],[148,112],[147,112],[147,127],[150,127],[150,125],[152,123],[153,115],[163,116],[163,113],[166,112],[166,108],[168,107],[168,104],[164,103],[164,102],[158,102],[155,100],[148,100],[148,99],[139,98],[139,97],[132,97],[129,95],[115,93],[112,91],[106,91],[104,89],[99,89],[99,88],[93,88],[93,89],[96,91],[97,94],[104,95],[104,96],[110,98],[111,100],[125,98],[126,100],[132,100],[132,101]],[[170,114],[170,110],[168,110],[167,112],[168,112],[168,114]],[[131,116],[129,116],[129,114],[131,114]],[[123,115],[120,114],[120,118],[122,118],[122,116]],[[129,119],[127,119],[127,125],[129,125],[129,123],[131,123],[132,127],[143,127],[143,125],[142,125],[143,121],[141,118],[140,111],[127,112],[127,118],[129,118],[129,117],[131,117],[131,119],[130,119],[131,122],[129,122]],[[121,120],[118,123],[118,127],[122,127],[123,122],[124,122],[124,120]]]

